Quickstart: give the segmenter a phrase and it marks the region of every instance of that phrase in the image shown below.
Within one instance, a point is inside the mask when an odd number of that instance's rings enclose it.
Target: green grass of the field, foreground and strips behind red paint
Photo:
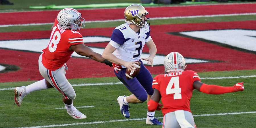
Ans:
[[[0,5],[0,12],[31,11],[29,6],[47,5],[79,5],[93,3],[122,3],[117,0],[97,1],[33,1],[33,0],[9,0],[15,5]],[[126,3],[140,3],[140,0],[126,0]],[[173,6],[173,5],[168,5]],[[152,21],[151,25],[157,24],[187,24],[203,22],[230,22],[255,20],[255,15],[247,16],[223,16],[212,18],[184,18]],[[10,19],[11,20],[11,19]],[[116,27],[123,22],[89,23],[85,28]],[[41,26],[14,26],[1,27],[0,32],[16,31],[41,31],[50,30],[51,25]],[[195,124],[198,128],[254,128],[256,127],[256,69],[242,71],[222,72],[198,72],[202,82],[221,86],[233,86],[237,82],[245,82],[245,90],[236,93],[222,95],[208,95],[194,90],[191,98],[191,110]],[[155,76],[156,74],[153,74]],[[225,77],[238,78],[225,78]],[[245,76],[245,77],[242,77]],[[248,76],[248,77],[247,77]],[[215,79],[209,79],[210,77]],[[224,77],[224,78],[219,78]],[[35,81],[5,82],[0,83],[0,128],[2,127],[140,127],[160,128],[162,126],[146,125],[146,103],[130,104],[130,118],[121,115],[117,97],[119,95],[131,95],[123,84],[108,84],[119,82],[115,77],[106,78],[80,78],[70,79],[74,86],[77,97],[74,106],[84,113],[87,118],[75,120],[66,112],[62,102],[62,95],[56,89],[34,91],[28,94],[22,101],[22,106],[14,104],[13,88],[27,86]],[[102,85],[94,85],[103,83]],[[86,86],[84,86],[86,84]],[[91,85],[91,86],[90,86]],[[84,107],[83,107],[84,106]],[[89,106],[88,108],[86,106]],[[56,109],[59,108],[59,109]],[[212,115],[211,115],[212,114]],[[162,121],[161,111],[156,111],[155,117]]]

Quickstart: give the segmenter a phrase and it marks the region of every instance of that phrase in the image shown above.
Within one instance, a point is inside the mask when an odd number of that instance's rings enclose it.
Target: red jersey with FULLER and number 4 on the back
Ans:
[[[165,115],[176,110],[190,110],[190,99],[193,93],[193,82],[201,81],[197,72],[183,71],[157,75],[152,88],[160,91],[162,97],[162,113]],[[191,112],[192,113],[192,112]]]

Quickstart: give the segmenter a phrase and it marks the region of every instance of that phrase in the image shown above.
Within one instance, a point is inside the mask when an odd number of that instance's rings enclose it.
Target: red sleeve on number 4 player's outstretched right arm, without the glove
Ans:
[[[224,94],[224,93],[234,92],[234,88],[202,84],[200,91],[207,94]]]

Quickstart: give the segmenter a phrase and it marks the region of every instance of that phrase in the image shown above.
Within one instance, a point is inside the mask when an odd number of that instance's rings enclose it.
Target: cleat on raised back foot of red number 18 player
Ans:
[[[21,106],[22,99],[27,95],[26,93],[26,87],[17,87],[14,89],[14,101],[17,106]]]

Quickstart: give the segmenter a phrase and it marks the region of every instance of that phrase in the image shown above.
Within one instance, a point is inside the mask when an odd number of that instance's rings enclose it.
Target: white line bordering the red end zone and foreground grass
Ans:
[[[228,77],[205,77],[200,78],[201,80],[212,80],[212,79],[233,79],[233,78],[251,78],[256,77],[256,75],[251,76],[228,76]],[[110,82],[110,83],[93,83],[93,84],[72,84],[72,86],[96,86],[96,85],[116,85],[116,84],[123,84],[122,82]],[[2,87],[2,86],[1,86]],[[0,88],[0,91],[4,90],[13,90],[13,88]]]

